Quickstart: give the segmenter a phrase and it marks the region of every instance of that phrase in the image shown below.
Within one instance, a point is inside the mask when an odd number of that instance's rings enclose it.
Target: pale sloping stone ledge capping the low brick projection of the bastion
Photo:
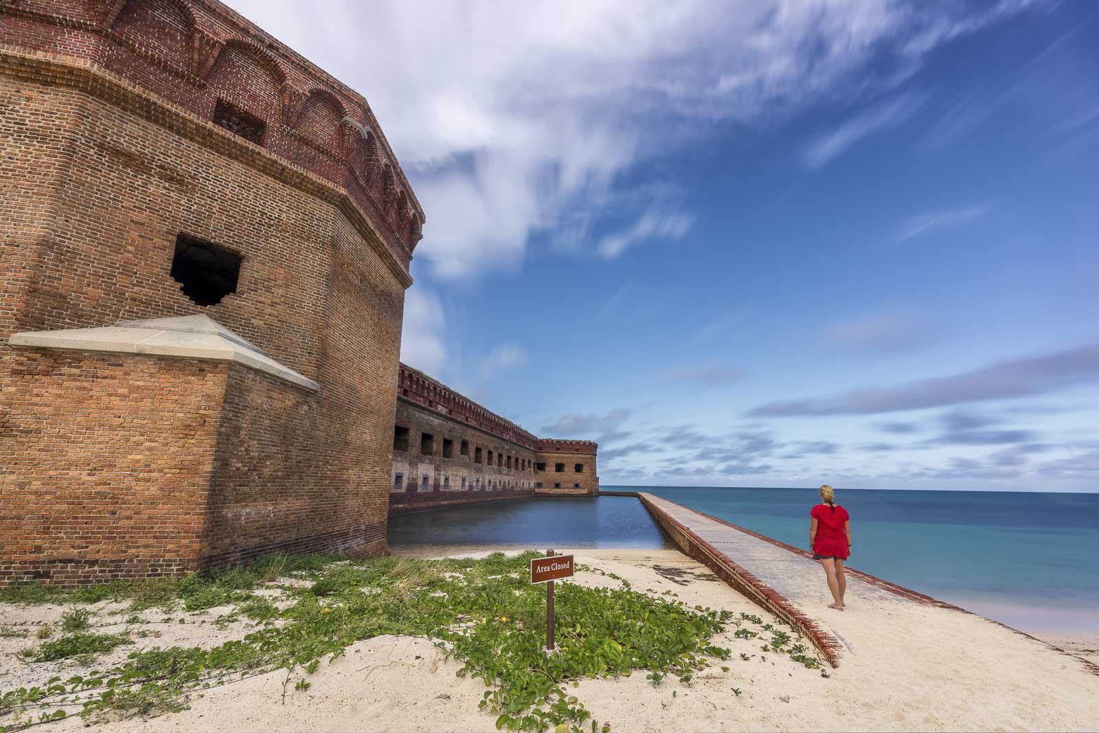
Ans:
[[[120,321],[99,329],[23,331],[12,334],[8,343],[33,348],[235,362],[298,387],[313,391],[321,388],[207,315]]]

